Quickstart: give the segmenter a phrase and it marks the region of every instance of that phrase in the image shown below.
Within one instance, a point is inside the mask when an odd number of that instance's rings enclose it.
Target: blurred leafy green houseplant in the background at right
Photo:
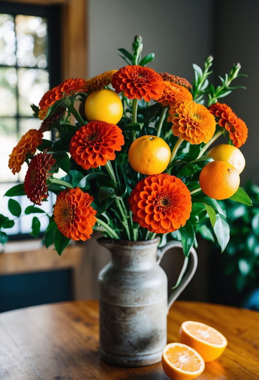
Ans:
[[[212,247],[213,268],[210,278],[212,282],[215,277],[221,279],[217,280],[217,291],[211,287],[214,302],[219,302],[221,294],[221,302],[249,307],[249,295],[259,288],[259,187],[249,181],[244,189],[251,196],[253,207],[225,201],[230,241],[222,256],[218,255],[216,244]]]

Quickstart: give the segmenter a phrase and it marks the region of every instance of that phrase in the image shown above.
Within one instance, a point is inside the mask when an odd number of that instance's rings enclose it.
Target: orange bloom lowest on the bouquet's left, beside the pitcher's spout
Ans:
[[[93,233],[97,211],[90,204],[93,197],[79,187],[66,189],[57,196],[54,220],[58,230],[72,240],[87,240]]]

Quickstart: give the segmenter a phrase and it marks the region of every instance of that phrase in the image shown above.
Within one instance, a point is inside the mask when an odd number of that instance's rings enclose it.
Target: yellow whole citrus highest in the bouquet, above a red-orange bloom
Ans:
[[[122,118],[123,105],[119,95],[108,89],[99,89],[88,95],[85,116],[88,121],[106,121],[117,124]]]

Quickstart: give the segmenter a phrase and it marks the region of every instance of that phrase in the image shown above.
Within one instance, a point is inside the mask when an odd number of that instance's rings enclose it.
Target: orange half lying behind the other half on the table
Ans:
[[[217,359],[227,345],[224,335],[201,322],[183,322],[179,336],[182,343],[188,344],[199,352],[205,363]]]

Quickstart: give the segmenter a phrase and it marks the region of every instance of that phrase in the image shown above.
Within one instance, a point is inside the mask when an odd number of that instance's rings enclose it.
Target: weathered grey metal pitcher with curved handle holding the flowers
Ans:
[[[99,273],[101,358],[118,366],[145,366],[161,360],[167,343],[167,313],[197,267],[191,260],[178,288],[167,298],[167,276],[159,266],[163,254],[180,242],[158,250],[160,239],[130,242],[98,239],[111,252]],[[187,260],[184,263],[186,269]]]

